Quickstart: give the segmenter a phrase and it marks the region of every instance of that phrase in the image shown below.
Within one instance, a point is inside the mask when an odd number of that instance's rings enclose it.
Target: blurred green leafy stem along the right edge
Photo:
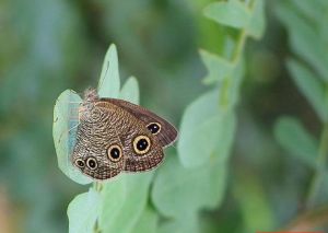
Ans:
[[[323,125],[319,139],[308,132],[295,117],[280,118],[274,129],[281,145],[314,170],[306,199],[307,208],[325,202],[328,194],[325,165],[328,154],[328,50],[325,49],[328,31],[323,25],[321,19],[327,15],[323,9],[328,9],[328,4],[320,0],[313,4],[292,0],[277,8],[277,15],[288,28],[293,54],[286,60],[288,70]]]

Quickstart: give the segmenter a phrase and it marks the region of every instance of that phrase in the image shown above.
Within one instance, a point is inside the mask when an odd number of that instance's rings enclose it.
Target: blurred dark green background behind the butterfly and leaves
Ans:
[[[0,232],[67,232],[67,206],[85,187],[57,166],[52,108],[63,90],[96,86],[110,43],[118,48],[121,78],[139,80],[141,105],[179,126],[188,103],[208,90],[199,48],[222,53],[223,35],[235,33],[202,16],[210,2],[0,1]],[[319,138],[323,124],[286,70],[285,59],[294,53],[292,30],[277,13],[282,2],[266,1],[265,36],[247,42],[227,189],[219,209],[202,213],[202,232],[251,232],[257,224],[282,229],[307,211],[315,172],[280,147],[273,127],[291,115]],[[289,2],[290,9],[302,9],[296,0]],[[327,23],[327,3],[298,2],[321,10],[319,21]],[[302,19],[313,23],[311,15]],[[327,27],[320,27],[326,55]],[[327,201],[321,198],[304,222],[325,225]]]

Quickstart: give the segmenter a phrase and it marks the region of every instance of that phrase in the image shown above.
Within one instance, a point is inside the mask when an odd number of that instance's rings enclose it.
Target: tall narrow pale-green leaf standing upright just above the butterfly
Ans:
[[[102,74],[98,82],[98,94],[101,97],[114,97],[119,95],[118,58],[115,45],[110,45],[105,56]]]

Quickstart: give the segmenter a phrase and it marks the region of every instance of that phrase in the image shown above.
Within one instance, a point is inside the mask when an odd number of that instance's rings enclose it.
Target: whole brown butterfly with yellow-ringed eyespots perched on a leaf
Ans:
[[[95,179],[156,167],[163,148],[177,138],[174,126],[157,115],[122,100],[101,98],[94,89],[85,91],[79,121],[72,163]]]

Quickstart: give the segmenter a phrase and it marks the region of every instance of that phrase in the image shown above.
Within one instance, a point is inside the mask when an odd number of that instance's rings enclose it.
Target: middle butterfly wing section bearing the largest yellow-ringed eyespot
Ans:
[[[130,112],[110,102],[99,101],[97,107],[109,110],[114,124],[108,128],[115,128],[116,136],[120,139],[124,154],[124,171],[142,172],[156,167],[163,160],[162,145],[144,127],[144,123]]]

